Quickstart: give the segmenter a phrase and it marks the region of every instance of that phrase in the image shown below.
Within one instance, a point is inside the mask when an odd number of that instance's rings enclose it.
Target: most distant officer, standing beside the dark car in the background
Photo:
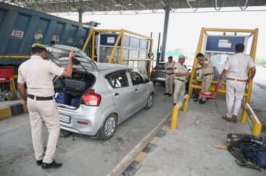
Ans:
[[[168,57],[168,61],[165,65],[166,69],[166,75],[165,75],[165,94],[168,96],[172,96],[173,93],[173,87],[174,87],[174,65],[176,64],[175,61],[173,61],[173,57]]]

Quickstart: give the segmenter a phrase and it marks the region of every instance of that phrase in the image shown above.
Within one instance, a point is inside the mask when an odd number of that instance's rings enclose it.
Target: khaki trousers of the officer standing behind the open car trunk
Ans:
[[[36,160],[43,159],[44,163],[52,163],[60,132],[59,114],[55,100],[36,101],[27,98],[31,136]],[[41,135],[42,120],[44,119],[49,132],[47,149],[43,157],[43,140]]]

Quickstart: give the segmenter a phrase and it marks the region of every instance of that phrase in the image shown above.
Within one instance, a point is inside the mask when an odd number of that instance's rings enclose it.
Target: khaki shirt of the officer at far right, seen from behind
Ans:
[[[254,62],[249,55],[243,53],[234,54],[225,61],[225,70],[228,71],[228,78],[238,80],[248,79],[248,68],[254,67]]]

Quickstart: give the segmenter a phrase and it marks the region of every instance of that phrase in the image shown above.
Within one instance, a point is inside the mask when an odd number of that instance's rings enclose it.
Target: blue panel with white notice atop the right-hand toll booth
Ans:
[[[234,53],[235,45],[244,42],[244,36],[208,36],[206,51]]]

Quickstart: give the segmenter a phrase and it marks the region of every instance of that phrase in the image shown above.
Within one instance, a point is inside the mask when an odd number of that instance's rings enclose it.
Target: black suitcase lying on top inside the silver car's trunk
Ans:
[[[82,93],[89,88],[90,81],[83,78],[66,78],[64,84],[66,90]]]

